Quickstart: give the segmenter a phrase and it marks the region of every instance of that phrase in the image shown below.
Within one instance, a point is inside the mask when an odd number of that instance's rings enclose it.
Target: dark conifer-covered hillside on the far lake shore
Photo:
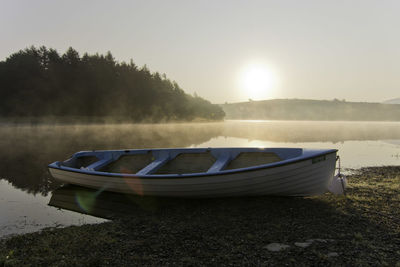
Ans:
[[[0,116],[119,118],[134,122],[221,120],[222,108],[186,94],[165,74],[117,62],[112,54],[80,56],[44,46],[0,62]]]

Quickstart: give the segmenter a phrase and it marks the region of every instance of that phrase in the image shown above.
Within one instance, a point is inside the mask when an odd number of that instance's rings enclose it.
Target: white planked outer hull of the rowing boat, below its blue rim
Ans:
[[[304,159],[256,170],[193,177],[109,176],[49,168],[63,182],[99,190],[162,197],[311,196],[323,194],[332,182],[336,153],[314,162]]]

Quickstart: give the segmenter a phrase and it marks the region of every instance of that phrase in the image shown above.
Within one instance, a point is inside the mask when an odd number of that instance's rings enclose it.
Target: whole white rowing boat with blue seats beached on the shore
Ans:
[[[310,196],[334,182],[336,149],[96,150],[49,164],[66,184],[141,196]]]

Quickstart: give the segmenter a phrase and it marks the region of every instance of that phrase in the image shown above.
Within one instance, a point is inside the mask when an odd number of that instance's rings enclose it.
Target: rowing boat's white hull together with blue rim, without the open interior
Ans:
[[[214,153],[217,150],[221,155],[224,151],[232,151],[232,149],[209,150],[213,150]],[[238,148],[233,150],[240,153],[254,149]],[[141,153],[141,151],[143,150],[136,150],[132,153]],[[155,151],[166,152],[167,150]],[[207,151],[207,149],[169,151],[185,153],[187,151]],[[163,197],[309,196],[325,193],[333,179],[337,150],[297,149],[292,150],[296,152],[295,156],[286,155],[286,158],[285,153],[288,153],[290,149],[276,148],[261,151],[279,151],[283,160],[247,168],[190,174],[107,173],[84,168],[71,168],[63,166],[60,162],[50,164],[49,171],[55,179],[63,183],[120,193]],[[115,151],[107,153],[112,152],[115,153]],[[81,154],[77,154],[89,155],[90,152],[79,153]],[[96,151],[95,153],[105,152]]]

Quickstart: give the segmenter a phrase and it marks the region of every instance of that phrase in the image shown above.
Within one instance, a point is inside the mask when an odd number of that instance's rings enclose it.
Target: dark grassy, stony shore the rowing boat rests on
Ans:
[[[349,177],[347,196],[143,198],[112,222],[2,240],[0,266],[400,266],[399,192],[400,167],[377,167]]]

